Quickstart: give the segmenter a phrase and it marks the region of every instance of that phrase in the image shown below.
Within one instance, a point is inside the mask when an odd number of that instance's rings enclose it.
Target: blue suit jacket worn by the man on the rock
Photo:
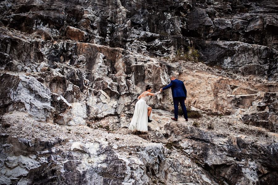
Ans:
[[[172,90],[172,96],[173,98],[178,98],[178,97],[185,97],[187,95],[186,92],[186,88],[183,84],[183,81],[175,79],[175,80],[171,80],[171,83],[167,86],[165,86],[164,88],[162,88],[162,90],[168,89],[171,87]]]

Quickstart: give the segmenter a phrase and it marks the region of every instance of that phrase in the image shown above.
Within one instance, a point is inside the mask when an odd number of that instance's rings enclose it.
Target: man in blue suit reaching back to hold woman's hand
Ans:
[[[180,106],[183,110],[183,116],[185,118],[185,121],[188,121],[187,110],[184,104],[184,102],[186,101],[187,93],[183,81],[176,79],[175,76],[172,76],[171,83],[160,90],[166,90],[170,87],[172,90],[172,96],[173,96],[174,108],[175,108],[175,117],[172,117],[171,119],[178,121],[179,103],[180,103]]]

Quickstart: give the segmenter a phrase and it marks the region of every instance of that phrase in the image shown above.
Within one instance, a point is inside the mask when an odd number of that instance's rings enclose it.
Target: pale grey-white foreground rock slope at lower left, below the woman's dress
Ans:
[[[8,117],[19,121],[17,114],[14,112]],[[31,118],[24,117],[20,122],[22,130],[36,128],[27,135],[16,128],[1,135],[1,161],[6,161],[1,175],[6,177],[6,184],[17,181],[28,184],[175,184],[182,181],[217,184],[190,158],[171,152],[162,143],[84,126],[73,128],[30,121]],[[59,136],[50,136],[48,129]]]

